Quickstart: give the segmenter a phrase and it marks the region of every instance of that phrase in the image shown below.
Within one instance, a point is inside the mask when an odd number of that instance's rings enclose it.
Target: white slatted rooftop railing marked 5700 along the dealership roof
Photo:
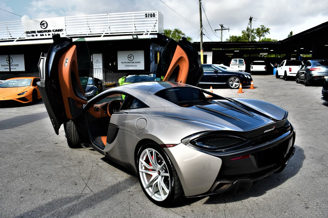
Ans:
[[[164,29],[163,15],[158,11],[93,14],[60,18],[63,18],[61,26],[65,27],[60,33],[70,37],[90,35],[103,37],[122,34],[149,35],[150,33],[163,33]],[[48,18],[49,22],[53,19],[55,18]],[[33,26],[34,23],[31,22],[38,22],[36,25],[38,26],[40,21],[47,21],[47,18],[0,22],[0,41],[28,39],[29,37],[25,32],[26,27]],[[42,31],[50,31],[50,29]],[[51,34],[38,35],[40,36],[37,36],[36,33],[34,39],[51,38]],[[41,37],[41,35],[44,36]]]

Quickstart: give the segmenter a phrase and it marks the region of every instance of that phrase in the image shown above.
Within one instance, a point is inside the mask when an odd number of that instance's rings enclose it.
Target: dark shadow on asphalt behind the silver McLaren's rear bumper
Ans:
[[[242,201],[251,197],[259,197],[267,191],[277,188],[279,185],[294,177],[303,166],[305,159],[304,150],[295,146],[296,151],[290,159],[286,168],[277,174],[272,174],[264,179],[261,179],[256,184],[253,184],[248,191],[236,191],[235,193],[223,193],[222,195],[210,196],[204,204],[225,204],[236,201]]]

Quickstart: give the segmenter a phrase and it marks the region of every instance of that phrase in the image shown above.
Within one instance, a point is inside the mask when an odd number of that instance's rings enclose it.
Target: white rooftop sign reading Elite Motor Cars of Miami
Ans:
[[[24,19],[24,31],[27,39],[51,38],[53,34],[65,36],[65,18]]]

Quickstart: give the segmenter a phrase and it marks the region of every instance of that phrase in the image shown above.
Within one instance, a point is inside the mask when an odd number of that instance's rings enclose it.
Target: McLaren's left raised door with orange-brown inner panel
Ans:
[[[53,40],[47,57],[43,57],[43,54],[40,57],[41,82],[38,87],[58,135],[61,124],[69,119],[76,119],[83,113],[83,105],[87,103],[87,99],[79,80],[81,75],[76,45],[70,38],[54,36]]]

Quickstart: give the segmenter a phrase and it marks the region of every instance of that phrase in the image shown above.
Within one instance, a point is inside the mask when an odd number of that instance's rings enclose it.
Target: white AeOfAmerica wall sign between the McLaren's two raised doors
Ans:
[[[117,51],[118,70],[144,70],[144,51]]]

